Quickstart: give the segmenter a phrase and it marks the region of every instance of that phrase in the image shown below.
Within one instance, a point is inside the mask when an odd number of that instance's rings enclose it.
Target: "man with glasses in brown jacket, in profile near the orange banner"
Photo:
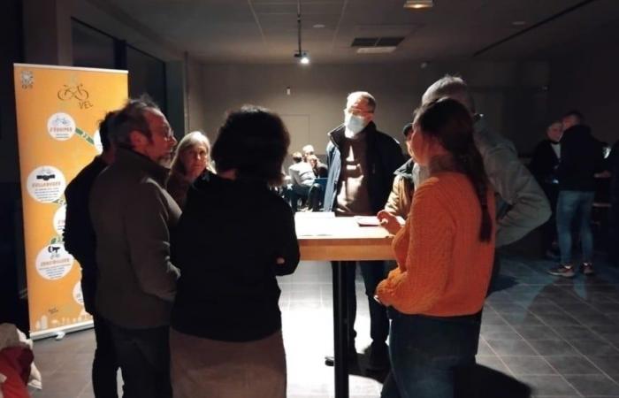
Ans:
[[[168,329],[179,271],[170,230],[179,206],[160,165],[176,143],[155,103],[132,100],[111,126],[116,161],[90,195],[96,234],[96,309],[109,324],[125,396],[172,397]]]

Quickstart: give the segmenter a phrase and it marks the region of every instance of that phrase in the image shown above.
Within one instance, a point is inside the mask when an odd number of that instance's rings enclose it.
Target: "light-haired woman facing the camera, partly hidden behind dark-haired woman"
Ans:
[[[182,209],[185,207],[187,189],[209,166],[210,142],[203,133],[195,131],[185,135],[176,148],[167,191]]]

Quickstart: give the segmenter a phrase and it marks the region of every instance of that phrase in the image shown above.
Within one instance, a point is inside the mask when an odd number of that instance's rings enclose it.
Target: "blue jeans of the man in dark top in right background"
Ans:
[[[557,200],[557,237],[561,250],[561,264],[572,264],[571,226],[576,218],[580,225],[580,242],[583,248],[583,262],[591,263],[593,258],[593,235],[591,232],[592,191],[561,191]]]

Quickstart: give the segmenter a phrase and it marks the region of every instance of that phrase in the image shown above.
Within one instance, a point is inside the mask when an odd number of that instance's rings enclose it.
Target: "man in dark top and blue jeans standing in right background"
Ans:
[[[581,271],[593,272],[593,236],[591,210],[595,195],[594,174],[602,168],[601,142],[584,125],[579,111],[569,111],[562,119],[561,161],[557,168],[559,198],[557,200],[557,239],[561,251],[561,264],[548,270],[551,275],[573,278],[576,275],[572,259],[571,226],[578,217],[580,241],[583,251]]]

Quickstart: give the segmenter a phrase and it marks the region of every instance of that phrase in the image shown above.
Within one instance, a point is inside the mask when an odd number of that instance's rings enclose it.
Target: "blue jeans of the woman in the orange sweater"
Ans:
[[[390,313],[391,373],[380,396],[453,398],[456,372],[475,364],[481,313],[444,318]]]

